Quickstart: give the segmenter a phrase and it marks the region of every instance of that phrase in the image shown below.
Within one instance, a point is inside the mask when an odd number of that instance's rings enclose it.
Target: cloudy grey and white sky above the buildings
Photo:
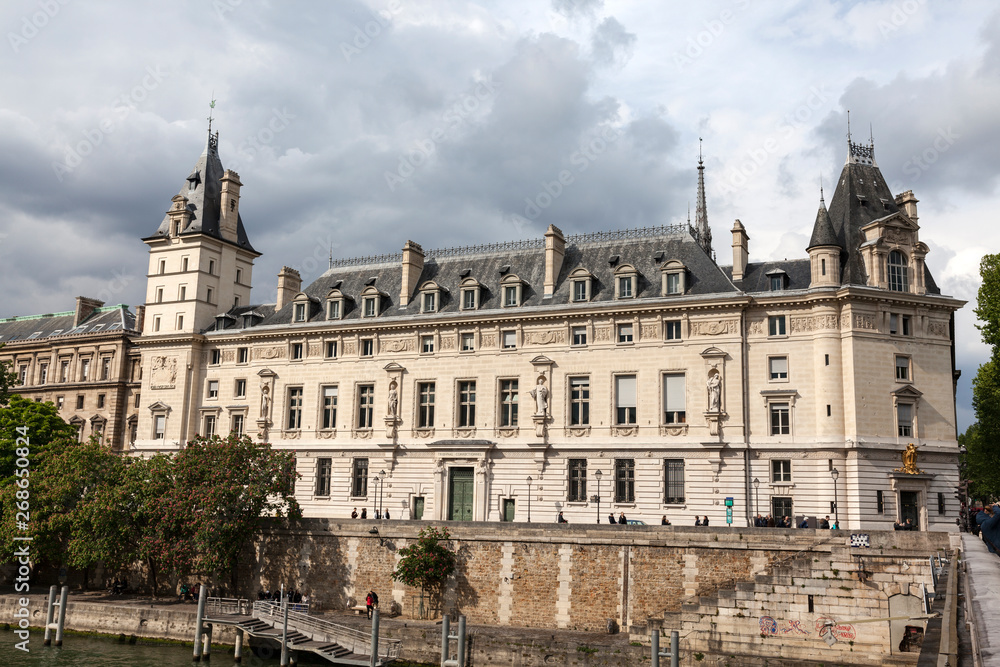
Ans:
[[[978,267],[1000,248],[993,2],[7,0],[0,31],[0,317],[142,303],[140,239],[210,112],[263,253],[253,300],[273,302],[283,265],[308,283],[331,252],[683,222],[699,149],[719,263],[737,218],[751,261],[802,258],[850,111],[920,200],[942,293],[969,301],[974,421]]]

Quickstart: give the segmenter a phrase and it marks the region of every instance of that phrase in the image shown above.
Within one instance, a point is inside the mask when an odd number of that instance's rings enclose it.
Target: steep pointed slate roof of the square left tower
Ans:
[[[188,198],[187,208],[191,211],[191,222],[181,231],[184,234],[207,234],[222,239],[219,231],[219,210],[222,204],[222,177],[225,169],[219,159],[219,134],[208,135],[205,150],[191,170],[191,174],[181,186],[180,195]],[[165,214],[156,233],[149,238],[158,236],[166,238],[170,234],[170,215]],[[250,245],[246,229],[243,228],[243,217],[236,217],[236,242],[241,248],[257,252]]]

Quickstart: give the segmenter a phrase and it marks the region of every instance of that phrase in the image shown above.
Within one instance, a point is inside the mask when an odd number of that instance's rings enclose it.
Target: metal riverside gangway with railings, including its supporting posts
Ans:
[[[199,606],[202,606],[199,596]],[[286,624],[287,615],[287,624]],[[236,598],[204,598],[202,623],[205,629],[205,647],[200,646],[201,633],[196,628],[195,660],[207,659],[206,647],[211,645],[212,625],[231,625],[237,629],[237,661],[242,657],[244,635],[270,639],[282,645],[282,664],[294,664],[289,652],[309,651],[337,665],[378,667],[399,658],[402,642],[378,636],[377,621],[371,634],[339,625],[308,613],[308,605],[282,604],[277,600],[249,600]],[[372,646],[376,655],[372,656]],[[199,649],[202,649],[199,651]],[[373,659],[374,658],[374,659]]]

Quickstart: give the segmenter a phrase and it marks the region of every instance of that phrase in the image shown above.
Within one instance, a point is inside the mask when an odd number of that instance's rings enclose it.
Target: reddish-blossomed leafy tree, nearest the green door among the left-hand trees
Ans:
[[[197,437],[176,454],[173,473],[173,490],[161,505],[169,516],[161,520],[173,518],[192,539],[187,545],[161,542],[161,554],[180,569],[190,558],[196,569],[229,574],[234,592],[240,558],[265,521],[302,516],[294,454],[248,436]]]

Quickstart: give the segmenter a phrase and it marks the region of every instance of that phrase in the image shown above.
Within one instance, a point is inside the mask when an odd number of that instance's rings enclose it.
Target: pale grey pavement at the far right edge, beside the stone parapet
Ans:
[[[1000,556],[981,539],[962,533],[966,605],[984,667],[1000,667]]]

